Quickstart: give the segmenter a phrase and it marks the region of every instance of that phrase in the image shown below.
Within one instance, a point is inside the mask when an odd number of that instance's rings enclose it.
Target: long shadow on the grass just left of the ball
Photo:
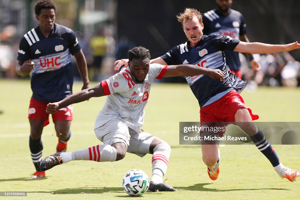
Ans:
[[[33,191],[32,193],[52,193],[52,194],[101,194],[101,193],[125,193],[122,187],[77,187],[64,188],[60,190]],[[127,195],[128,196],[128,195]]]

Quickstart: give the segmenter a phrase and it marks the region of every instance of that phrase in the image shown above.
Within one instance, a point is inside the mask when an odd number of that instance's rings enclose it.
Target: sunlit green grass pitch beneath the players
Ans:
[[[94,85],[95,83],[91,83]],[[78,91],[81,83],[74,84]],[[278,177],[269,161],[254,145],[220,147],[217,181],[208,178],[200,146],[179,145],[179,122],[199,121],[199,106],[187,84],[153,84],[146,106],[149,133],[167,141],[172,153],[164,178],[178,192],[128,196],[122,178],[130,169],[142,169],[151,178],[151,155],[127,154],[117,162],[72,161],[46,172],[46,178],[31,180],[35,172],[29,151],[27,119],[31,89],[29,80],[0,79],[0,191],[28,192],[27,197],[0,199],[300,199],[300,179],[291,183]],[[299,88],[258,88],[242,92],[246,105],[259,121],[300,121]],[[95,118],[105,97],[74,104],[72,137],[67,151],[98,145]],[[43,157],[55,153],[57,137],[52,121],[44,128]],[[280,161],[300,170],[300,145],[273,145]]]

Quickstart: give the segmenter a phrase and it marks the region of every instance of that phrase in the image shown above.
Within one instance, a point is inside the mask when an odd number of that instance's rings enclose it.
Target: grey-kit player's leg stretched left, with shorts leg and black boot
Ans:
[[[42,161],[41,170],[45,171],[72,160],[113,162],[125,157],[130,137],[128,127],[124,123],[111,120],[102,127],[96,128],[95,133],[97,138],[104,142],[103,145],[50,155]]]

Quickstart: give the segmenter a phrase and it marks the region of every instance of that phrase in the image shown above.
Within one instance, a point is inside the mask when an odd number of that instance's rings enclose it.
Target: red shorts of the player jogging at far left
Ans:
[[[49,114],[46,113],[48,103],[35,100],[31,97],[28,118],[32,120],[45,121],[44,126],[49,124]],[[52,114],[52,121],[69,121],[73,120],[73,105],[59,109],[55,114]]]

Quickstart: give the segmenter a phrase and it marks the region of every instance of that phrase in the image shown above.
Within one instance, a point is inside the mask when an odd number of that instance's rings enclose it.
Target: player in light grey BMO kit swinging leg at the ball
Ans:
[[[47,113],[85,101],[91,97],[106,95],[106,103],[95,121],[95,134],[103,145],[46,157],[41,170],[67,163],[71,160],[94,160],[97,162],[117,161],[125,157],[126,151],[140,157],[152,156],[152,181],[149,190],[177,191],[164,183],[162,177],[167,171],[171,148],[162,139],[140,130],[144,123],[144,108],[148,102],[153,80],[170,76],[197,76],[203,74],[224,81],[221,70],[212,70],[194,65],[150,64],[150,53],[144,47],[128,51],[128,67],[97,85],[70,95],[56,103],[47,105]]]

